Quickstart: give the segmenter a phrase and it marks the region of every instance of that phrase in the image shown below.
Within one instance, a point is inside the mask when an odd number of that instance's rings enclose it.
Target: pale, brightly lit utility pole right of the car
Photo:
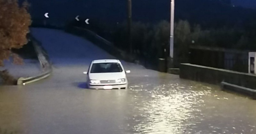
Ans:
[[[174,0],[171,0],[171,20],[170,20],[170,58],[171,66],[173,67],[173,39],[174,39]]]

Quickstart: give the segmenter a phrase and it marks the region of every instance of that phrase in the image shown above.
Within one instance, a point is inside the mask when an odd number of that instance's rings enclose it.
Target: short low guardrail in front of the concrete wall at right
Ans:
[[[230,84],[227,82],[221,82],[220,86],[221,86],[222,91],[227,89],[227,90],[231,90],[231,91],[241,92],[241,93],[244,93],[247,95],[251,95],[252,99],[256,99],[256,90],[254,90],[254,89],[238,86],[235,84]]]

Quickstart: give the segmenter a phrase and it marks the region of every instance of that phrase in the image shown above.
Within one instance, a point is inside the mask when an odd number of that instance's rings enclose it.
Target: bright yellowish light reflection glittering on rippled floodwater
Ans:
[[[137,124],[133,128],[137,134],[179,134],[187,131],[188,126],[193,128],[195,123],[191,120],[203,116],[197,108],[204,102],[201,97],[211,92],[210,87],[193,90],[198,88],[179,83],[162,84],[148,90],[150,86],[145,84],[131,89],[137,94],[134,96],[138,104],[134,107]]]

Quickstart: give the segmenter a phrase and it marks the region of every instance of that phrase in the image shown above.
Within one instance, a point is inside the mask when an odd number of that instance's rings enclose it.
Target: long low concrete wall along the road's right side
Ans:
[[[256,75],[188,63],[180,65],[180,78],[211,84],[220,84],[225,81],[238,86],[256,89]]]

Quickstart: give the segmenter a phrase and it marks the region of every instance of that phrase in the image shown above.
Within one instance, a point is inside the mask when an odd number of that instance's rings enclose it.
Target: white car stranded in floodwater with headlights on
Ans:
[[[87,85],[90,89],[127,89],[128,81],[124,67],[117,59],[93,60],[87,72]]]

